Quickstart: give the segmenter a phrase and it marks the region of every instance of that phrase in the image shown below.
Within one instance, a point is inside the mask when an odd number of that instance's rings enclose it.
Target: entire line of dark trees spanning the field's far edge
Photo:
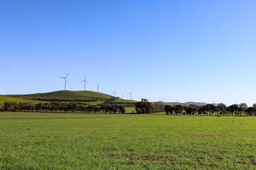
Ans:
[[[93,106],[85,103],[16,103],[6,102],[0,106],[0,111],[23,111],[23,112],[54,112],[54,113],[125,113],[123,105],[107,105]],[[207,104],[206,106],[170,106],[150,103],[142,98],[142,101],[135,104],[137,113],[158,113],[166,112],[166,115],[255,115],[256,103],[252,107],[248,107],[246,103],[233,104],[226,106],[219,103],[218,106]]]

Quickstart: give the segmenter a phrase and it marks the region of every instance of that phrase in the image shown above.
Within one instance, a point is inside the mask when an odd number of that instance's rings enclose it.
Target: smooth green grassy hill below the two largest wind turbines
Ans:
[[[97,93],[95,91],[53,91],[49,93],[41,94],[23,94],[23,95],[0,95],[0,103],[4,102],[29,102],[38,103],[40,100],[55,99],[56,101],[87,101],[86,103],[100,104],[111,98],[108,94]],[[117,102],[136,102],[128,101],[121,98],[116,100]]]

